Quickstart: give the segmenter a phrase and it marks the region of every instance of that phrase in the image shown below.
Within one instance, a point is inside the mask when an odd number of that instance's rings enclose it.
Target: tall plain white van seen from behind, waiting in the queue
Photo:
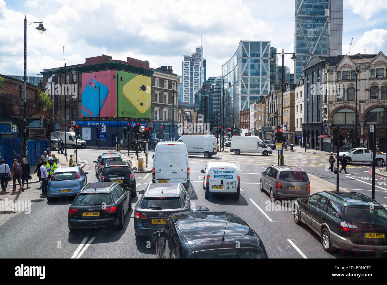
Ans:
[[[152,182],[190,185],[187,147],[182,142],[159,142],[154,149]]]

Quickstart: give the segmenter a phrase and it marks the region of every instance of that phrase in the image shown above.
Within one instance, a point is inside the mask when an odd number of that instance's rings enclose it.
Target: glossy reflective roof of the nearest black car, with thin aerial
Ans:
[[[241,218],[224,211],[191,211],[172,214],[172,220],[191,248],[206,249],[260,247],[258,235]],[[224,241],[222,241],[224,234]]]

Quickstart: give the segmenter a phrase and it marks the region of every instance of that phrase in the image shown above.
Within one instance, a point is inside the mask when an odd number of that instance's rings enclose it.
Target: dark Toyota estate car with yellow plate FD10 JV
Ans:
[[[190,195],[181,183],[154,183],[139,192],[134,210],[134,233],[151,237],[164,228],[167,217],[173,213],[188,211]]]

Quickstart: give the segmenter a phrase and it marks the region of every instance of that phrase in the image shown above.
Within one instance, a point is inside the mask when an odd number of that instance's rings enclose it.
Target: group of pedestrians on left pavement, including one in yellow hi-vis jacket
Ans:
[[[63,140],[61,140],[63,143]],[[62,148],[62,145],[61,145]],[[39,159],[39,164],[36,167],[36,170],[33,174],[37,173],[39,182],[41,184],[42,194],[47,193],[48,179],[57,169],[58,159],[55,154],[48,156],[47,151]],[[28,180],[31,180],[31,169],[26,158],[22,159],[22,163],[19,163],[18,160],[14,159],[14,164],[10,168],[8,164],[5,163],[0,156],[0,182],[2,192],[7,191],[8,182],[11,181],[11,171],[13,175],[13,191],[16,191],[16,181],[19,184],[19,190],[22,192],[24,189],[24,182],[26,182],[26,188],[28,188]]]

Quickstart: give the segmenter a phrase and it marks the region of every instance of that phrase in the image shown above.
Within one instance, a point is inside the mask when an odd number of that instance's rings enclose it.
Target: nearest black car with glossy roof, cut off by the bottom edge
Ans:
[[[256,232],[238,216],[198,209],[168,216],[155,232],[156,258],[267,258]]]

